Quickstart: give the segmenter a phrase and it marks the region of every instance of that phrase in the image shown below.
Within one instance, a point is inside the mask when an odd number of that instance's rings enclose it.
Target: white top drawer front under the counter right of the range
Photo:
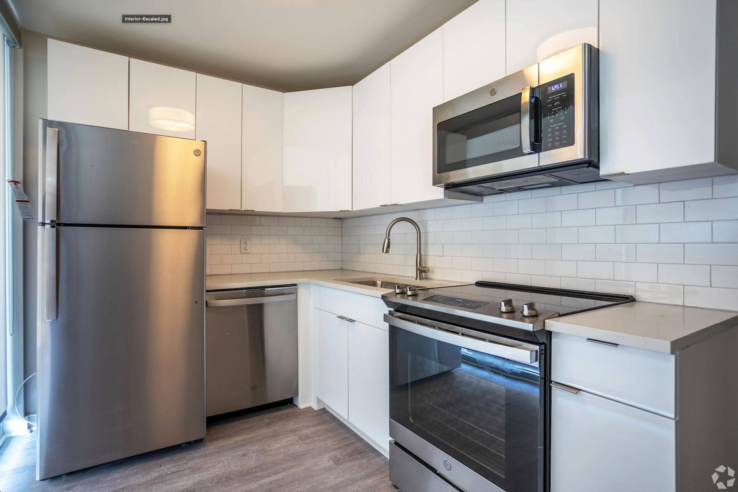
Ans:
[[[551,379],[675,417],[675,356],[554,333]]]

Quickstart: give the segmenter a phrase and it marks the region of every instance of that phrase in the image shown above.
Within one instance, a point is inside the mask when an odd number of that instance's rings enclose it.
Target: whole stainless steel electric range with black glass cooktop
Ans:
[[[477,282],[398,286],[390,325],[390,479],[403,492],[548,491],[546,319],[631,296]]]

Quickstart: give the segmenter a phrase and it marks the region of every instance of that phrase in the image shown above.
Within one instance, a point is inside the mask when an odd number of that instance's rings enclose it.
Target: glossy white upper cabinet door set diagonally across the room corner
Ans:
[[[351,86],[284,94],[283,212],[351,209]]]

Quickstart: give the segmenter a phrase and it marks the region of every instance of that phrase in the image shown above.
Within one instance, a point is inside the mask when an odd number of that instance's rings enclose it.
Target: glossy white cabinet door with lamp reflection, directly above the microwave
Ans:
[[[508,1],[508,75],[577,44],[598,46],[598,20],[597,0]],[[655,53],[651,49],[644,51]]]

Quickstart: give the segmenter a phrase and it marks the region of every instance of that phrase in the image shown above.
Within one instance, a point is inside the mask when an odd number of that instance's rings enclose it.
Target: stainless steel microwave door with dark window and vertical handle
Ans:
[[[433,184],[538,167],[538,65],[433,108]]]

